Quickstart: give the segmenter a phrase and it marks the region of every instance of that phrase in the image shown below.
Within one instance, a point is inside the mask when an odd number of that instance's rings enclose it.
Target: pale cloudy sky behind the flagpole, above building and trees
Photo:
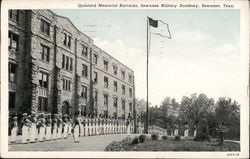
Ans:
[[[151,34],[149,102],[192,93],[240,100],[240,11],[213,9],[56,9],[135,72],[146,99],[147,16],[168,23],[172,39]]]

